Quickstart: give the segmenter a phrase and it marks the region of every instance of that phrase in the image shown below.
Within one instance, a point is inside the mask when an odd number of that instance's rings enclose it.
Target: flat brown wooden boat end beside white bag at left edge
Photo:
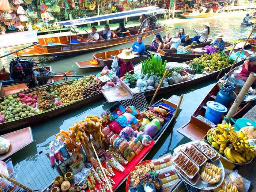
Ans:
[[[11,142],[11,146],[8,152],[0,155],[0,161],[3,161],[4,159],[10,157],[12,154],[34,142],[30,127],[7,133],[5,135],[1,135],[0,137]]]

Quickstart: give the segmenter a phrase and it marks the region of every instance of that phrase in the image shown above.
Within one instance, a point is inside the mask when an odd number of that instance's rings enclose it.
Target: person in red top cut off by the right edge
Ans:
[[[242,71],[237,75],[237,78],[245,82],[251,72],[256,73],[256,54],[251,54],[246,58],[242,65]],[[256,89],[256,80],[253,82],[252,88]]]

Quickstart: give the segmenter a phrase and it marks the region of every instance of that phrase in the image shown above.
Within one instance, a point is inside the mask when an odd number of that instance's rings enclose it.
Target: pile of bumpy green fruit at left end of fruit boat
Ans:
[[[37,114],[37,111],[29,105],[22,104],[18,95],[10,95],[0,104],[1,117],[5,122],[13,121]]]

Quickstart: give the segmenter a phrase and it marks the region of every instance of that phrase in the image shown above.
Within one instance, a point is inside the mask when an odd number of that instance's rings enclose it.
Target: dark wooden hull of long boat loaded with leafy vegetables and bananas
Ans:
[[[234,49],[234,52],[237,52],[237,51],[240,51],[240,49]],[[251,52],[249,52],[247,50],[243,50],[243,52],[244,52],[245,56],[251,53]],[[237,62],[235,64],[235,66],[243,64],[244,61],[245,61],[245,59]],[[191,61],[187,61],[187,62],[184,62],[184,63],[189,64],[189,63],[191,63]],[[135,73],[136,72],[140,73],[141,66],[142,66],[141,64],[135,66],[135,68],[134,68]],[[231,65],[228,66],[228,67],[225,67],[223,69],[223,73],[229,71],[230,68],[231,68]],[[170,93],[171,91],[178,90],[178,89],[180,89],[182,87],[186,87],[186,86],[189,86],[189,85],[194,84],[194,83],[199,83],[199,82],[202,82],[203,80],[206,80],[206,79],[209,79],[209,78],[214,78],[214,77],[216,77],[219,74],[219,72],[220,72],[220,70],[212,72],[212,73],[210,73],[208,75],[204,75],[204,76],[202,76],[200,78],[195,78],[195,79],[187,80],[187,81],[184,81],[184,82],[181,82],[181,83],[169,85],[169,86],[166,86],[166,87],[161,87],[158,90],[158,94]],[[148,96],[154,95],[154,92],[155,92],[155,89],[153,89],[153,90],[146,90],[146,91],[144,91],[144,94],[145,94],[146,97],[148,97]]]

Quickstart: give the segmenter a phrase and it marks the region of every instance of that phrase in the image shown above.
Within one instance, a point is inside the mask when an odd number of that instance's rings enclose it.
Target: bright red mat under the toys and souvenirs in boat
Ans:
[[[140,160],[144,157],[144,155],[146,155],[148,153],[148,151],[151,150],[151,148],[154,146],[154,144],[155,144],[155,141],[152,141],[151,144],[147,147],[144,147],[143,150],[140,152],[140,154],[136,155],[132,159],[131,162],[129,162],[127,165],[123,165],[123,167],[125,168],[124,172],[120,172],[120,171],[113,168],[114,173],[116,174],[115,176],[111,177],[113,179],[113,181],[116,183],[114,185],[112,184],[113,185],[113,187],[112,187],[113,191],[120,184],[120,182],[123,181],[126,176],[128,176],[128,174],[131,172],[133,167],[135,167],[140,162]],[[102,163],[102,166],[106,168],[105,163]],[[96,181],[95,187],[97,189],[99,189],[97,181]],[[86,189],[86,192],[89,192],[88,188]]]

